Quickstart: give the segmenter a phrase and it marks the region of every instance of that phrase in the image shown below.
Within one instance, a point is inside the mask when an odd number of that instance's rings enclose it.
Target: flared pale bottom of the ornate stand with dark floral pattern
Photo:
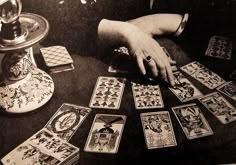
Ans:
[[[10,83],[0,75],[0,109],[9,113],[25,113],[43,106],[52,97],[52,78],[38,68],[32,68],[24,79]]]

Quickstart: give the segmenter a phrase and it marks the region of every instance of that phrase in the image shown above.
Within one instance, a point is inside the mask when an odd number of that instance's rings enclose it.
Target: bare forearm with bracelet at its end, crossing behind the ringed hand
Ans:
[[[153,14],[128,21],[148,35],[163,35],[176,32],[181,21],[180,14]]]

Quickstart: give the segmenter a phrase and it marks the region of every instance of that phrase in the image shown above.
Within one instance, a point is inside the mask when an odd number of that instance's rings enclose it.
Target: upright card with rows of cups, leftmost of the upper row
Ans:
[[[93,95],[90,101],[92,108],[119,109],[125,78],[119,77],[98,77]]]

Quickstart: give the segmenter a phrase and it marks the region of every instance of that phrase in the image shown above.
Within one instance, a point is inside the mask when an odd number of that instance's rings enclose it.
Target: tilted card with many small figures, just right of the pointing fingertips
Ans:
[[[180,69],[210,89],[214,89],[225,83],[225,80],[223,80],[219,75],[197,61],[184,65]]]

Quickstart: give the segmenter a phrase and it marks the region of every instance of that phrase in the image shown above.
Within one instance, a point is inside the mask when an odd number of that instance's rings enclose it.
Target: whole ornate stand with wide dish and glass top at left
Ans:
[[[52,78],[34,64],[32,45],[44,39],[48,21],[21,14],[20,0],[0,1],[0,109],[10,113],[35,110],[52,97]]]

